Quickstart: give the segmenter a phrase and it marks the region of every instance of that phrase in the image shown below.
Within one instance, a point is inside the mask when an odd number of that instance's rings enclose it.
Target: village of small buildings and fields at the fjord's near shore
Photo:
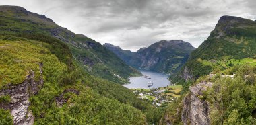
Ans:
[[[167,87],[158,87],[152,89],[131,89],[139,99],[148,100],[154,106],[161,106],[163,103],[169,103],[178,99],[182,89],[181,85],[168,85]]]

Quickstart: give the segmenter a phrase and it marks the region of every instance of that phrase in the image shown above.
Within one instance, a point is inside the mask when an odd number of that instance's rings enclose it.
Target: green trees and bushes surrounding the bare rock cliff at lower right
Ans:
[[[209,114],[207,117],[209,118],[210,124],[255,124],[255,68],[256,65],[253,65],[253,63],[236,64],[234,67],[229,67],[222,71],[226,76],[217,73],[214,76],[200,77],[195,81],[192,85],[194,87],[197,83],[201,83],[201,81],[212,83],[212,87],[201,91],[202,95],[197,96],[209,105]],[[236,75],[234,77],[227,75],[232,73],[236,73]],[[190,93],[190,91],[187,91],[187,94],[183,95],[181,99],[168,105],[165,115],[161,120],[162,124],[166,124],[166,122],[182,124],[181,117],[182,114],[185,114],[183,109],[185,105],[184,97],[189,96]],[[195,102],[193,104],[198,106]],[[194,110],[199,111],[201,109]]]

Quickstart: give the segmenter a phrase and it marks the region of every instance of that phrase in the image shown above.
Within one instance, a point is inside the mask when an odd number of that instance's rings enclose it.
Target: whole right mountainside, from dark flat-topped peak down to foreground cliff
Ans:
[[[166,108],[162,124],[255,124],[255,54],[256,22],[220,17],[183,67],[183,97]]]

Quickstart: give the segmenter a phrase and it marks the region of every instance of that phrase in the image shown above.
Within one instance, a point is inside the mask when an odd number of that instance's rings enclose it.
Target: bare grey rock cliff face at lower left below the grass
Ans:
[[[0,96],[10,96],[10,102],[1,102],[0,108],[11,110],[13,116],[13,124],[33,124],[34,116],[31,110],[29,97],[36,94],[43,85],[42,79],[42,63],[39,63],[40,77],[38,80],[34,79],[34,71],[30,70],[30,75],[26,77],[24,82],[13,85],[8,84],[0,90]]]

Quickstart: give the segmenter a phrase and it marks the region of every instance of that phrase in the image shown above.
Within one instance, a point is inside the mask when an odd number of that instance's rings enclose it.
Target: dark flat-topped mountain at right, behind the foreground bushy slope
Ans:
[[[256,57],[256,22],[241,17],[223,16],[183,67],[183,79],[197,79]],[[251,58],[251,59],[250,59]]]

